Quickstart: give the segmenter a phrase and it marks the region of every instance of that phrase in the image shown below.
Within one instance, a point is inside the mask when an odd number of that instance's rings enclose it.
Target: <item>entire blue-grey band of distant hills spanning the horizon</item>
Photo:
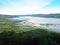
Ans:
[[[16,18],[20,16],[33,16],[33,17],[47,17],[47,18],[60,18],[60,14],[31,14],[31,15],[3,15],[0,14],[0,19],[3,18]]]

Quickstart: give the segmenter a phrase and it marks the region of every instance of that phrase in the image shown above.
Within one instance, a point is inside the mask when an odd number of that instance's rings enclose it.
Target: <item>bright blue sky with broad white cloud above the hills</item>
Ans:
[[[0,0],[0,14],[60,13],[60,0]]]

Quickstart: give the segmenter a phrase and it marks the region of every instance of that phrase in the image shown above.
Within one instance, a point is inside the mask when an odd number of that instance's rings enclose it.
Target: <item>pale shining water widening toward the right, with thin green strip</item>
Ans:
[[[12,18],[18,20],[26,20],[26,22],[33,23],[34,26],[40,28],[46,28],[53,31],[60,32],[60,19],[59,18],[43,18],[43,17],[31,17],[31,16],[24,16],[18,18]]]

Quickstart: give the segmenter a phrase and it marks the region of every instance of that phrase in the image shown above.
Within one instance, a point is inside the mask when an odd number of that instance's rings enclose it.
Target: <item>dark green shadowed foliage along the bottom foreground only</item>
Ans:
[[[36,29],[23,33],[0,33],[0,45],[60,45],[60,34]]]

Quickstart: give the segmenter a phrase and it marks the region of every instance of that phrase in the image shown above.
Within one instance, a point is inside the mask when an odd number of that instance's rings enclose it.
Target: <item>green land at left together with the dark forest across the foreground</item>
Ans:
[[[0,45],[60,45],[60,33],[33,27],[20,29],[4,19],[0,20]]]

